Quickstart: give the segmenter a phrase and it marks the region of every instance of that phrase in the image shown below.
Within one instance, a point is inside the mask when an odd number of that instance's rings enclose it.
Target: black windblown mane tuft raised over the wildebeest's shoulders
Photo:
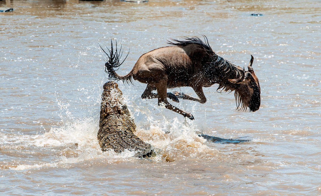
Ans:
[[[177,43],[171,42],[169,40],[167,40],[167,43],[175,46],[186,46],[188,44],[199,45],[203,47],[206,52],[213,55],[215,52],[212,50],[210,44],[208,43],[207,37],[205,35],[202,35],[202,36],[204,37],[205,42],[203,42],[198,37],[192,37],[192,38],[183,37],[185,40],[181,41],[181,40],[171,39],[172,41],[175,41]]]

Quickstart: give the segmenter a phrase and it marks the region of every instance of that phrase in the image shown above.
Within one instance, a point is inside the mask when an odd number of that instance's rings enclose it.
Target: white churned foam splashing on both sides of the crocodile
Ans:
[[[137,120],[136,120],[137,121]],[[150,143],[156,150],[157,156],[154,161],[175,161],[182,157],[202,156],[204,153],[213,157],[217,150],[207,147],[203,138],[197,136],[192,122],[182,122],[177,117],[162,122],[154,120],[151,116],[144,122],[143,128],[139,128],[136,134],[143,141]],[[146,125],[147,124],[147,125]],[[64,164],[80,163],[87,160],[128,161],[132,160],[135,152],[126,150],[123,153],[115,153],[113,150],[102,152],[97,140],[99,129],[98,116],[66,121],[61,127],[53,127],[48,132],[39,135],[6,135],[2,134],[2,144],[17,144],[24,147],[36,146],[43,148],[58,147],[61,149],[58,159],[46,163],[41,161],[37,164],[19,164],[9,166],[12,170],[26,170],[41,167],[56,167]],[[168,133],[169,132],[169,133]],[[74,145],[75,143],[78,144]],[[10,146],[9,146],[10,147]],[[12,147],[12,146],[11,146]],[[65,154],[64,154],[65,153]],[[48,160],[48,157],[45,157]]]

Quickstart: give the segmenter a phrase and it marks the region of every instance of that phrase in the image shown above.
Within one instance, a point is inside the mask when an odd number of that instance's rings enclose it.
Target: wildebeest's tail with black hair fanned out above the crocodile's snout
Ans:
[[[101,46],[100,46],[100,48],[102,49]],[[104,49],[102,49],[102,51],[105,52]],[[108,53],[105,52],[105,54],[108,57],[107,62],[105,63],[105,72],[108,73],[108,79],[109,80],[118,80],[118,81],[122,80],[123,82],[126,81],[127,83],[129,81],[130,83],[132,83],[132,72],[129,72],[126,76],[119,76],[116,73],[116,71],[119,69],[119,66],[121,64],[123,64],[125,59],[127,58],[129,51],[128,51],[126,57],[124,58],[124,60],[122,62],[120,62],[120,58],[123,55],[122,45],[120,45],[120,49],[118,52],[117,41],[116,41],[116,47],[115,47],[115,52],[114,52],[113,41],[111,40],[111,49],[108,49]]]

